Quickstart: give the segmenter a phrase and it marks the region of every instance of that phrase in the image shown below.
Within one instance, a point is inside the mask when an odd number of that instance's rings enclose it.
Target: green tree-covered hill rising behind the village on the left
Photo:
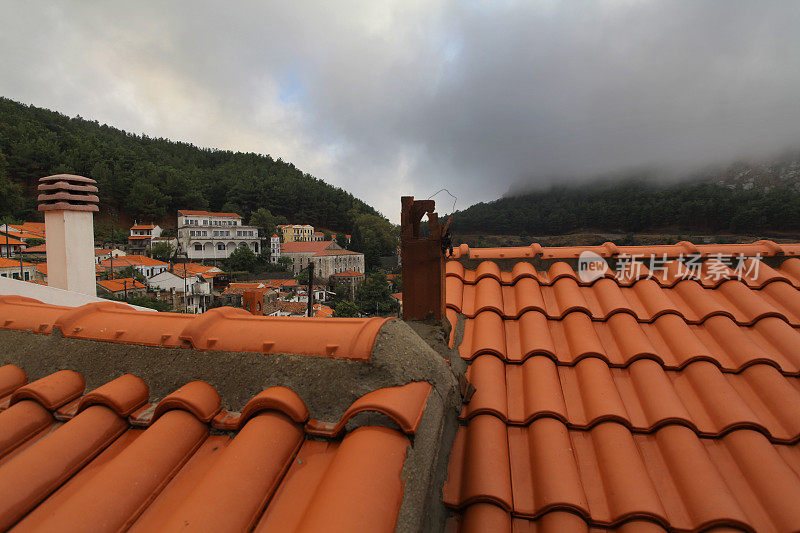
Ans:
[[[61,173],[97,180],[101,213],[140,221],[174,220],[178,209],[248,217],[266,207],[349,231],[356,215],[377,214],[280,159],[151,139],[0,98],[0,219],[34,219],[37,180]]]

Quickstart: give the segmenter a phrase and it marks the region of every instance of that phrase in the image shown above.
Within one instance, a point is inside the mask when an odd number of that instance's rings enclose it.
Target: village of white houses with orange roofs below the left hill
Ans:
[[[173,228],[135,222],[127,242],[95,241],[97,293],[181,313],[232,306],[264,316],[358,316],[367,271],[364,254],[347,249],[351,238],[310,224],[278,224],[266,236],[238,213],[179,210]],[[369,314],[397,315],[399,255],[384,259],[388,272],[377,279],[385,301]],[[47,285],[47,274],[45,224],[0,225],[0,276]]]

